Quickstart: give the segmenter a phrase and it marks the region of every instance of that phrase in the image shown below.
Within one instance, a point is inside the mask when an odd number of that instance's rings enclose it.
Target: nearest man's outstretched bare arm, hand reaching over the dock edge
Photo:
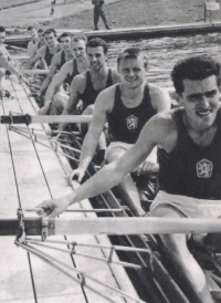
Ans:
[[[137,143],[123,157],[106,165],[73,194],[41,203],[39,207],[42,208],[42,211],[39,213],[48,213],[50,217],[55,217],[65,211],[72,203],[105,192],[118,185],[128,173],[133,171],[146,159],[154,146],[157,145],[159,136],[159,132],[155,132],[157,125],[154,117],[144,127]],[[162,134],[161,137],[165,137],[165,135]]]

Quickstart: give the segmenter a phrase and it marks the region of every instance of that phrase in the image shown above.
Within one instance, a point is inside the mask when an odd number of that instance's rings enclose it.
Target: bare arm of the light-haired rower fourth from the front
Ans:
[[[61,70],[59,71],[59,73],[56,73],[53,79],[52,82],[50,83],[46,93],[45,93],[45,101],[44,103],[46,104],[48,102],[52,101],[52,97],[54,96],[54,94],[56,93],[56,90],[64,83],[65,79],[67,77],[67,75],[70,74],[70,67],[72,67],[73,64],[72,62],[66,62]]]

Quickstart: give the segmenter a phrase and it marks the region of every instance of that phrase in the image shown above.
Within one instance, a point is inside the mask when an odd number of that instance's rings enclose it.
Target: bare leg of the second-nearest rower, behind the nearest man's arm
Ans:
[[[115,147],[109,150],[106,160],[108,163],[114,161],[124,155],[125,152],[126,150],[122,147]],[[141,217],[146,215],[141,208],[138,189],[130,175],[127,175],[124,178],[124,180],[117,186],[117,189],[119,190],[123,200],[127,203],[135,216]]]

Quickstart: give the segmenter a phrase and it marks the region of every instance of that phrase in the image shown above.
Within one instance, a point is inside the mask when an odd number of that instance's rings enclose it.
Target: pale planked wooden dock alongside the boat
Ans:
[[[29,87],[18,83],[13,77],[4,80],[2,85],[14,95],[14,98],[1,98],[1,116],[14,115],[9,113],[35,115],[39,108],[33,97],[30,97]],[[24,218],[35,217],[25,212],[25,209],[35,207],[43,199],[72,191],[66,182],[71,167],[66,157],[61,154],[61,147],[57,145],[54,150],[50,140],[44,145],[35,142],[34,134],[38,132],[46,137],[45,130],[49,130],[49,125],[36,124],[34,129],[22,125],[22,129],[25,128],[33,136],[21,136],[18,134],[21,129],[18,130],[19,127],[12,125],[0,126],[1,173],[4,176],[0,184],[0,213],[3,220],[18,220],[18,208],[23,210]],[[67,221],[73,217],[96,217],[95,212],[86,211],[92,210],[86,200],[73,209],[77,211],[64,213],[62,219]],[[19,228],[21,222],[20,217]],[[12,227],[12,222],[9,227]],[[2,230],[6,230],[6,224]],[[34,238],[41,239],[38,236]],[[106,236],[54,236],[54,241],[65,242],[63,250],[67,250],[66,253],[59,250],[59,243],[53,244],[55,250],[51,250],[45,247],[38,248],[25,240],[18,241],[15,236],[0,237],[1,302],[144,302],[138,297],[125,271],[125,265],[129,264],[122,264],[115,251],[112,252],[113,262],[108,261],[109,250],[103,247],[112,244]],[[74,253],[70,252],[70,242],[83,242],[88,247],[78,244]]]

